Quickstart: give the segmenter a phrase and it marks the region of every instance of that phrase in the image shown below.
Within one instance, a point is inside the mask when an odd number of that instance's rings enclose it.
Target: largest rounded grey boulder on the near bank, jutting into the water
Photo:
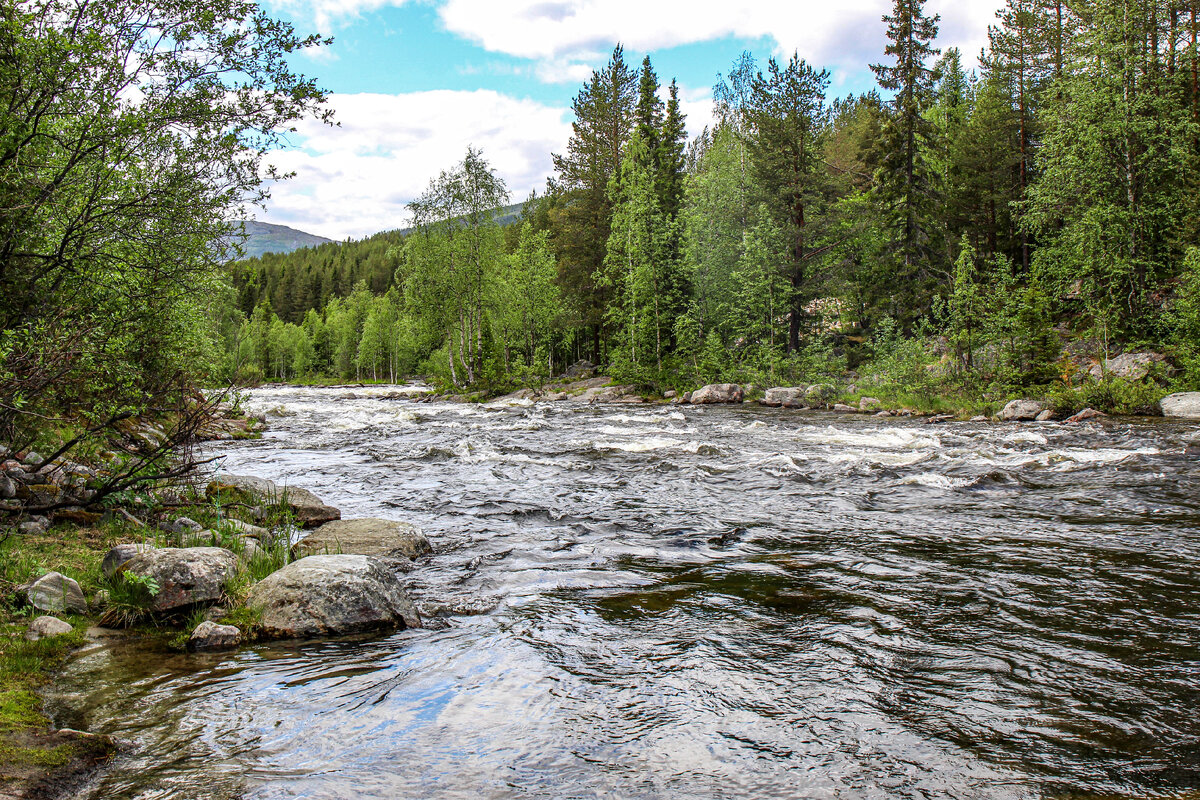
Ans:
[[[370,555],[310,555],[251,587],[263,634],[280,639],[420,627],[396,573]]]

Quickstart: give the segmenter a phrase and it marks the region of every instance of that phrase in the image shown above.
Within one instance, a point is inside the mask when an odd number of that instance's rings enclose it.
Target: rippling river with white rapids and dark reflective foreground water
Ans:
[[[431,621],[96,645],[94,798],[1198,798],[1200,437],[256,391],[223,468],[412,521]]]

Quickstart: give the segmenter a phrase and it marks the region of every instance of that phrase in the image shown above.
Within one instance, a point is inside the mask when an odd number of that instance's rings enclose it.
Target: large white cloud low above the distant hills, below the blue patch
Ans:
[[[404,204],[430,179],[482,149],[514,201],[542,188],[551,152],[570,137],[569,112],[494,91],[335,95],[338,128],[302,125],[298,148],[271,155],[289,181],[271,191],[265,222],[344,239],[407,224]]]

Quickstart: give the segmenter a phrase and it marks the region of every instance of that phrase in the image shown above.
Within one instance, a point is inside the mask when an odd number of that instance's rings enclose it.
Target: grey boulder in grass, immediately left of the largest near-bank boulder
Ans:
[[[169,612],[221,600],[238,572],[238,557],[223,547],[162,547],[138,553],[118,572],[152,578],[158,594],[146,610]]]

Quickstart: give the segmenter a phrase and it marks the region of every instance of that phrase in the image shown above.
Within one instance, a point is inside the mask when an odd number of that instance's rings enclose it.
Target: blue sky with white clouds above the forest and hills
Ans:
[[[1002,0],[928,0],[936,44],[976,64]],[[613,47],[631,66],[649,54],[679,84],[691,134],[712,120],[712,86],[744,50],[761,62],[793,52],[830,72],[830,96],[875,86],[882,16],[892,0],[265,0],[298,32],[334,37],[295,56],[330,95],[340,122],[304,121],[269,161],[264,222],[330,239],[407,224],[404,205],[468,145],[512,201],[545,188],[551,154],[571,133],[571,100]]]

